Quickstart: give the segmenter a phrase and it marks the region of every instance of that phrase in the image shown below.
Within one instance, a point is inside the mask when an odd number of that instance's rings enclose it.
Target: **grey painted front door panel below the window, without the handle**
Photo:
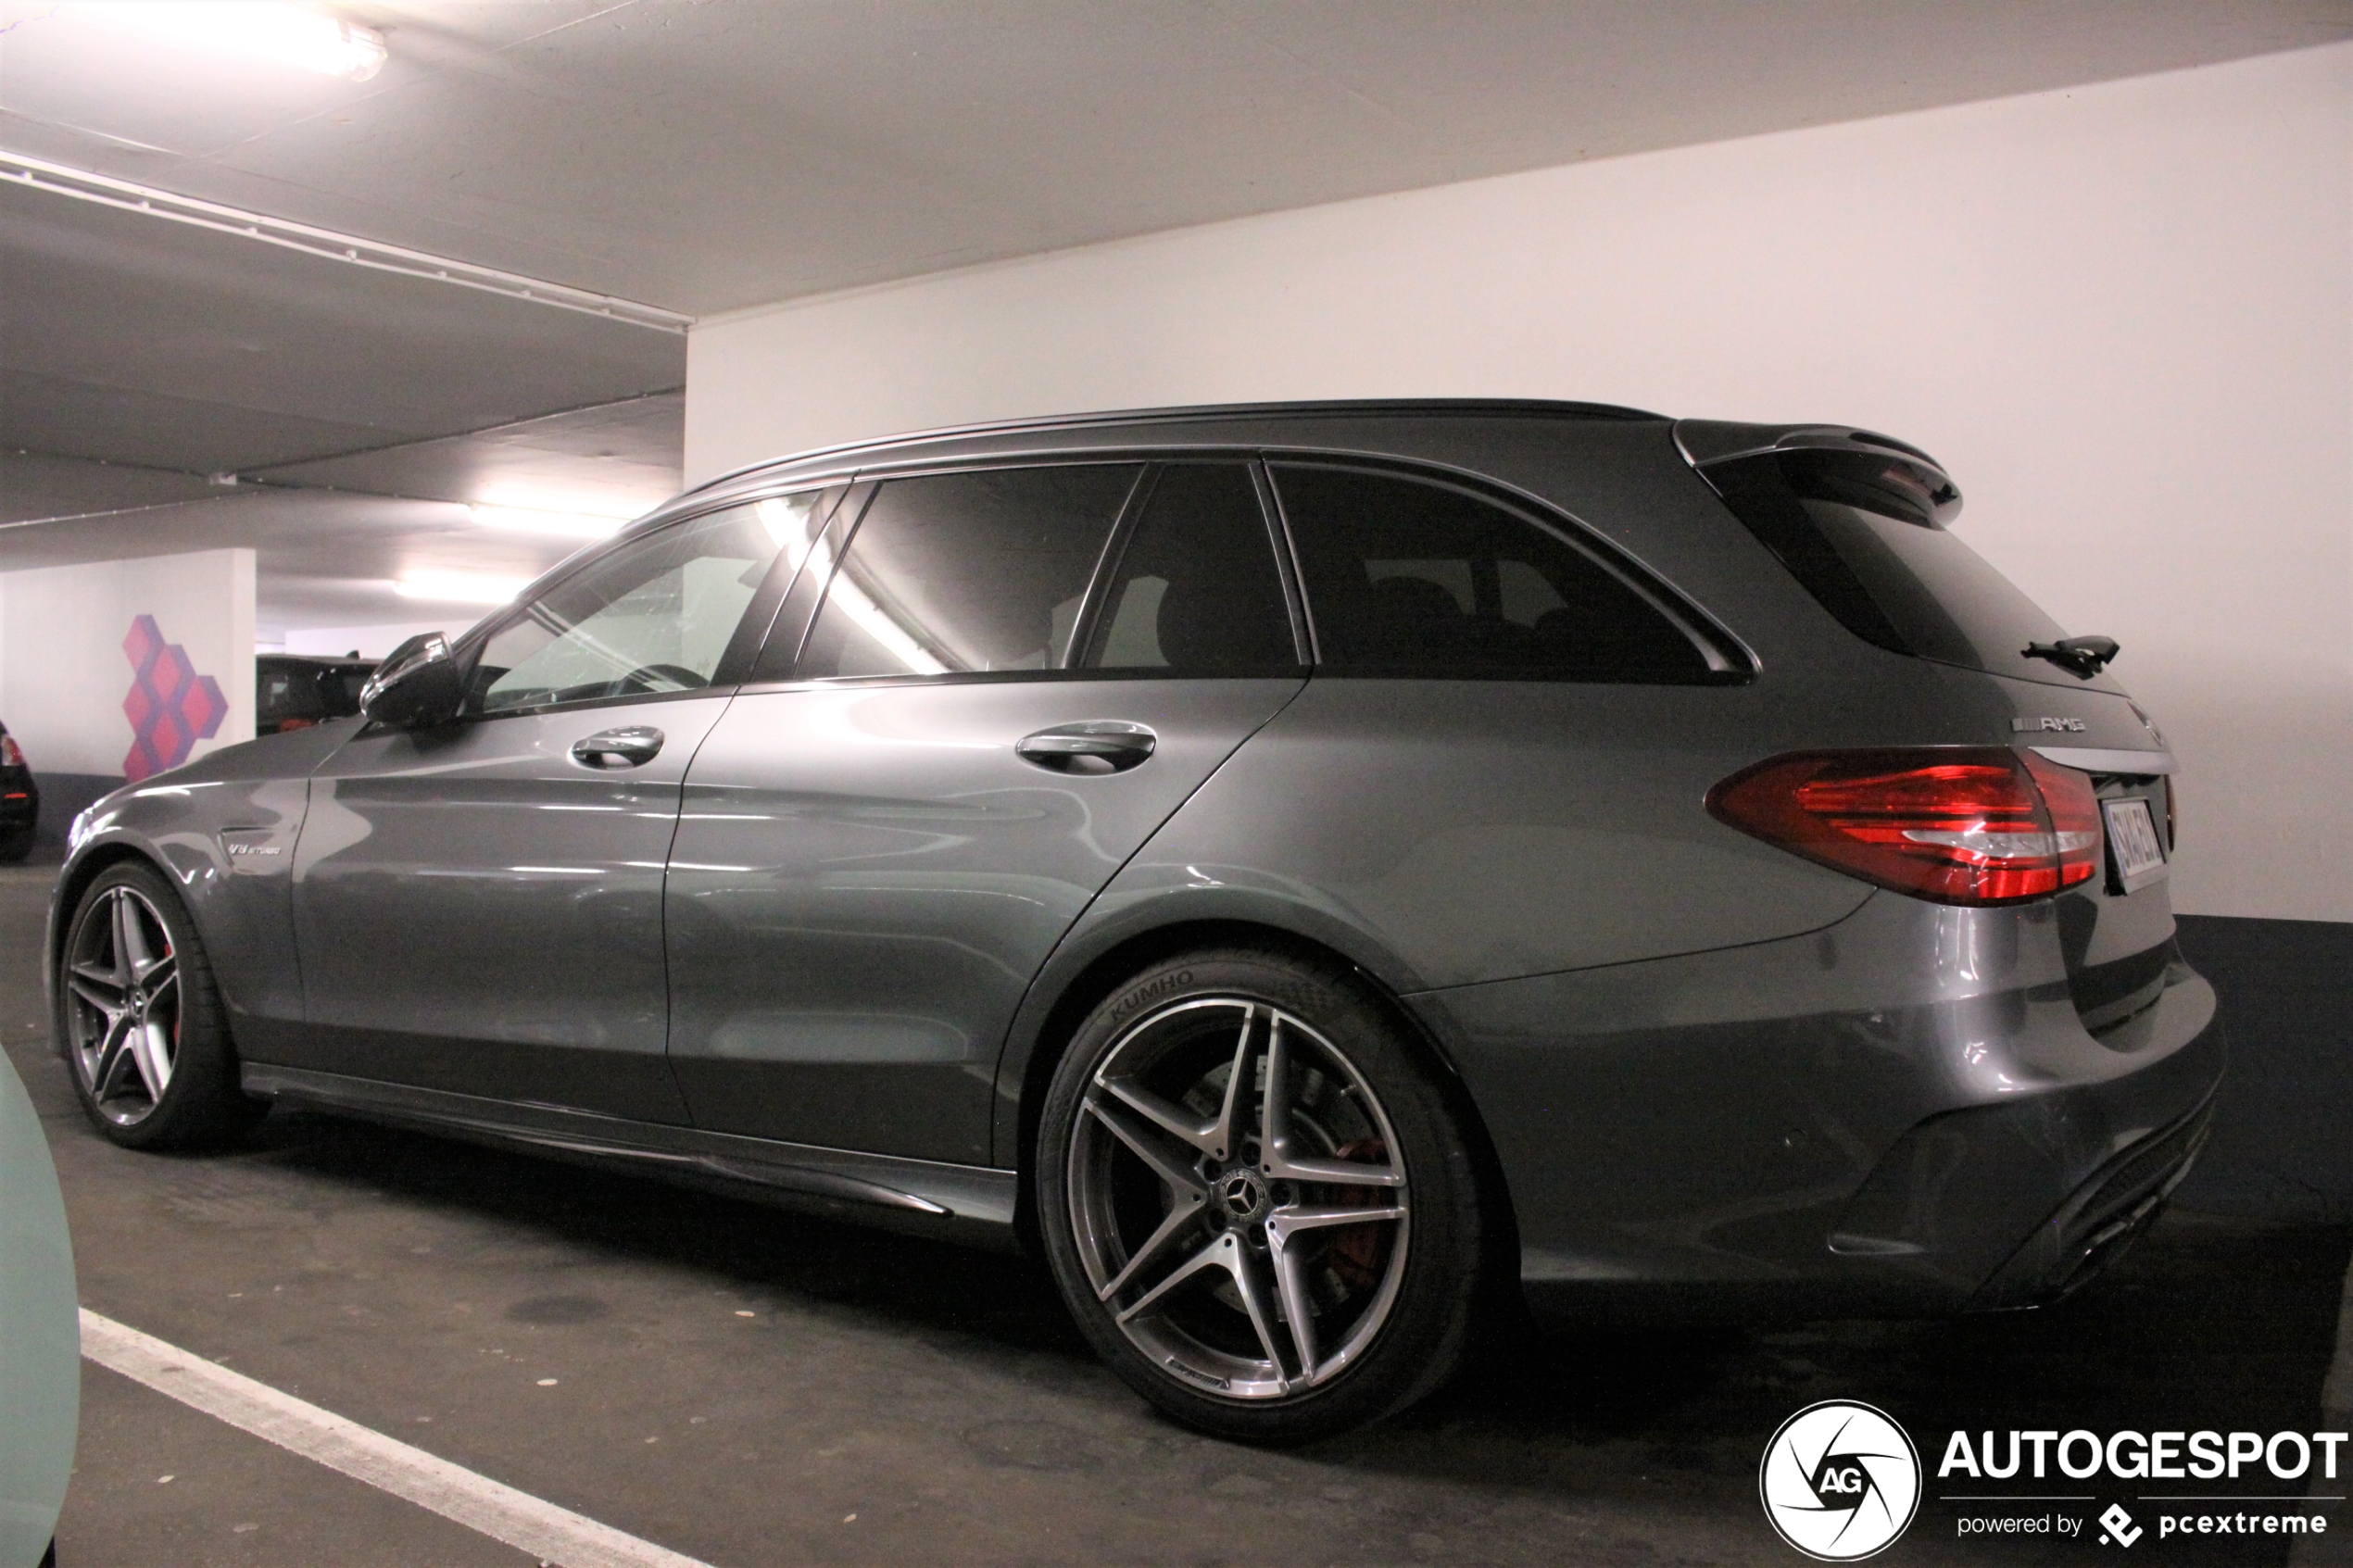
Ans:
[[[715,696],[353,736],[294,856],[304,1041],[289,1065],[685,1121],[664,1067],[661,886]],[[645,766],[569,748],[628,722]]]

